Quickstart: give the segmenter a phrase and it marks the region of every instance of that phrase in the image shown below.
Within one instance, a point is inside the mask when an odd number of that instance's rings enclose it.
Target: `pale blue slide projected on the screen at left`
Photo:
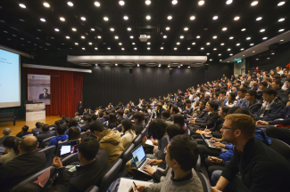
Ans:
[[[21,106],[20,55],[0,49],[0,108]]]

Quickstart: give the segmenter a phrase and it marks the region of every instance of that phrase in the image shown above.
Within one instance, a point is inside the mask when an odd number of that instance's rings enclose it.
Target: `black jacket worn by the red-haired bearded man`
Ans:
[[[229,182],[237,172],[250,191],[285,191],[290,181],[290,164],[284,156],[269,148],[260,140],[250,139],[243,152],[237,148],[221,176]]]

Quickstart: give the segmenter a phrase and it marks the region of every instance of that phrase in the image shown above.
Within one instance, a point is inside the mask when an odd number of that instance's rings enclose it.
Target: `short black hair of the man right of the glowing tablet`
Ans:
[[[85,139],[82,139],[78,146],[79,153],[81,153],[87,161],[95,159],[99,148],[99,141],[93,137],[86,137]]]

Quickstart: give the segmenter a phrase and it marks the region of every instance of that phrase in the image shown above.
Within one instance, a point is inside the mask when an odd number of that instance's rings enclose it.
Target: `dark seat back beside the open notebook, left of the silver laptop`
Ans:
[[[108,168],[108,171],[104,174],[103,179],[99,185],[100,191],[105,192],[107,188],[111,185],[112,181],[118,178],[118,172],[120,171],[120,166],[122,165],[122,160],[117,158],[112,165]]]

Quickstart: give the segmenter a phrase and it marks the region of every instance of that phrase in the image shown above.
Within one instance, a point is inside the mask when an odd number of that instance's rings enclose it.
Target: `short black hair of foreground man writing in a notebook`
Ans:
[[[183,171],[195,167],[199,151],[197,143],[189,135],[182,134],[173,137],[168,147],[170,159],[175,159]]]

